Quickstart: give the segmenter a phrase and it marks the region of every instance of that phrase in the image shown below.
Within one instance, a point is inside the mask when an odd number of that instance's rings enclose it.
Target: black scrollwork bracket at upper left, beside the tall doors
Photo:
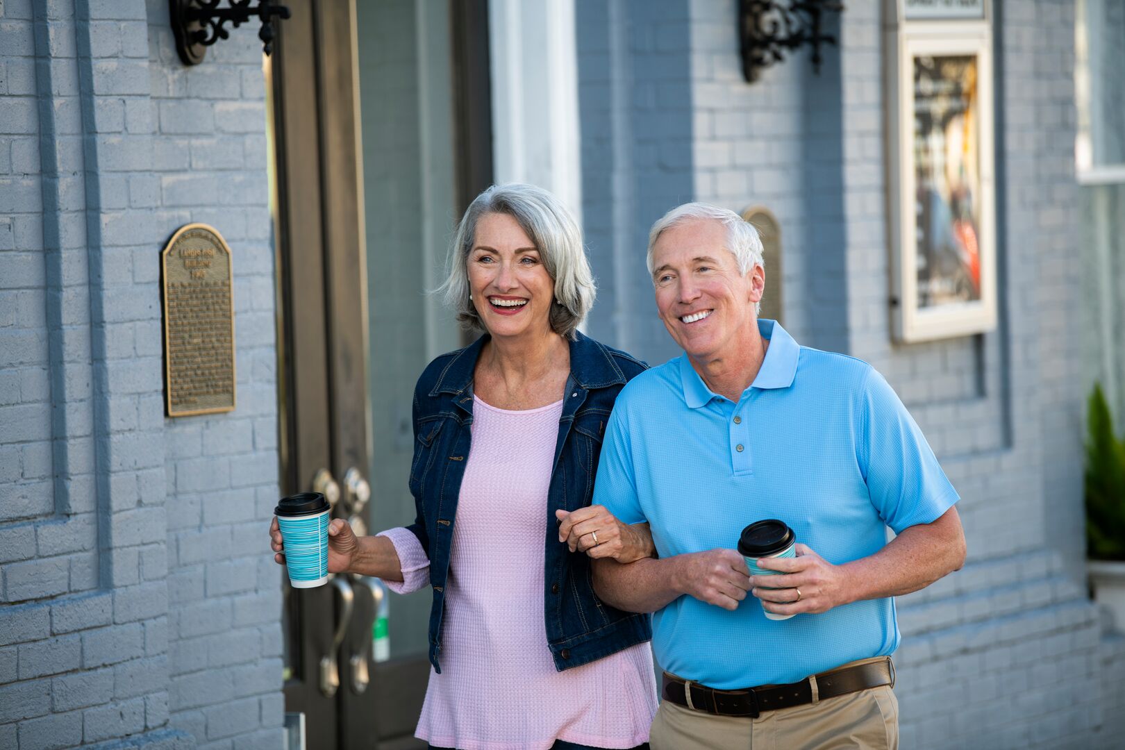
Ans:
[[[230,6],[219,8],[223,0],[169,0],[176,51],[183,64],[201,63],[207,47],[231,36],[225,28],[227,24],[238,28],[254,16],[262,21],[258,31],[262,51],[270,54],[273,51],[273,18],[289,18],[289,9],[276,0],[258,0],[258,4],[251,7],[253,1],[227,0]]]

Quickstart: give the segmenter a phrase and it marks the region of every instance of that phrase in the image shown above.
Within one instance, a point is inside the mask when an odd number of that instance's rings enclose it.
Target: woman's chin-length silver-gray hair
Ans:
[[[471,331],[485,329],[469,299],[468,256],[477,224],[486,214],[505,214],[531,237],[539,260],[555,281],[550,325],[564,338],[575,338],[578,325],[594,306],[597,290],[582,244],[582,229],[558,198],[533,184],[494,184],[477,196],[457,226],[449,249],[449,277],[438,288],[457,319]]]

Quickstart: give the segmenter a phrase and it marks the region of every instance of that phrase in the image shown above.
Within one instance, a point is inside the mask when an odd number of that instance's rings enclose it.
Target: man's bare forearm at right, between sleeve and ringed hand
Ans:
[[[926,588],[965,561],[965,536],[955,507],[937,521],[902,530],[882,550],[845,563],[848,600],[902,596]]]

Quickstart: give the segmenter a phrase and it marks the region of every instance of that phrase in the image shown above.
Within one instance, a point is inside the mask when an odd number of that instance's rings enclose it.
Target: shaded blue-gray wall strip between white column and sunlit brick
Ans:
[[[648,227],[691,200],[688,3],[575,3],[583,222],[598,292],[588,332],[659,363],[676,354],[645,266]]]

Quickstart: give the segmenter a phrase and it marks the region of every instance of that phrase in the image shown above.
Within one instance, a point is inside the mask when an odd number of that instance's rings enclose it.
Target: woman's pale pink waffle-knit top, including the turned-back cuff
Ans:
[[[475,400],[472,444],[457,505],[441,674],[431,668],[415,737],[462,750],[600,748],[648,741],[656,680],[648,643],[557,671],[543,624],[547,490],[562,401],[508,412]],[[407,594],[430,561],[405,528],[395,544]]]

